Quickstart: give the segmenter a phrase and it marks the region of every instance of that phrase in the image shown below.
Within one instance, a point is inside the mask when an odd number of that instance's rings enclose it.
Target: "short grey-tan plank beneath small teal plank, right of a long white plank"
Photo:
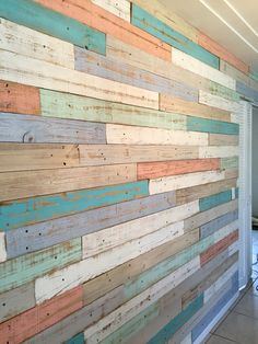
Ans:
[[[222,204],[215,208],[209,209],[207,211],[199,213],[194,215],[191,218],[185,220],[185,229],[198,228],[207,222],[214,220],[215,218],[236,210],[238,207],[238,200],[234,199],[228,203]]]

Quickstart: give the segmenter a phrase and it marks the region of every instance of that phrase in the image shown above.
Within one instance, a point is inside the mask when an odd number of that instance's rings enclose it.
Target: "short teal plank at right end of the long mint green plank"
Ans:
[[[187,117],[187,130],[211,134],[238,135],[239,126],[236,123],[227,123],[200,117]]]

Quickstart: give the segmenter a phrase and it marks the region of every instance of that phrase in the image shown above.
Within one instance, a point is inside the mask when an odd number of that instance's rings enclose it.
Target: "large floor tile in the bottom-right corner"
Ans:
[[[215,334],[241,344],[257,344],[258,320],[233,311],[220,324]]]

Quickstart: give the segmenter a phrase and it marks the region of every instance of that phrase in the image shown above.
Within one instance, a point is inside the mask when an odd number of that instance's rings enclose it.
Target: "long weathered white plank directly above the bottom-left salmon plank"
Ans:
[[[71,264],[52,274],[39,277],[35,282],[35,297],[37,303],[50,299],[55,295],[70,290],[81,283],[85,283],[144,252],[153,250],[156,245],[166,243],[184,233],[184,222],[174,223],[171,228],[163,228],[140,239],[131,240],[114,250],[85,259]],[[85,256],[85,251],[83,253]]]

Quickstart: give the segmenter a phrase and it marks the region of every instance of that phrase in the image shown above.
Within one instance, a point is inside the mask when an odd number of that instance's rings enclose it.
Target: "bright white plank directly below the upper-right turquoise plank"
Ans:
[[[201,60],[185,54],[184,51],[173,49],[172,62],[176,66],[200,74],[203,78],[208,78],[211,81],[218,82],[228,89],[234,91],[236,90],[236,82],[233,78],[224,74],[220,70],[212,68],[211,66],[208,66],[207,64],[203,64]]]

